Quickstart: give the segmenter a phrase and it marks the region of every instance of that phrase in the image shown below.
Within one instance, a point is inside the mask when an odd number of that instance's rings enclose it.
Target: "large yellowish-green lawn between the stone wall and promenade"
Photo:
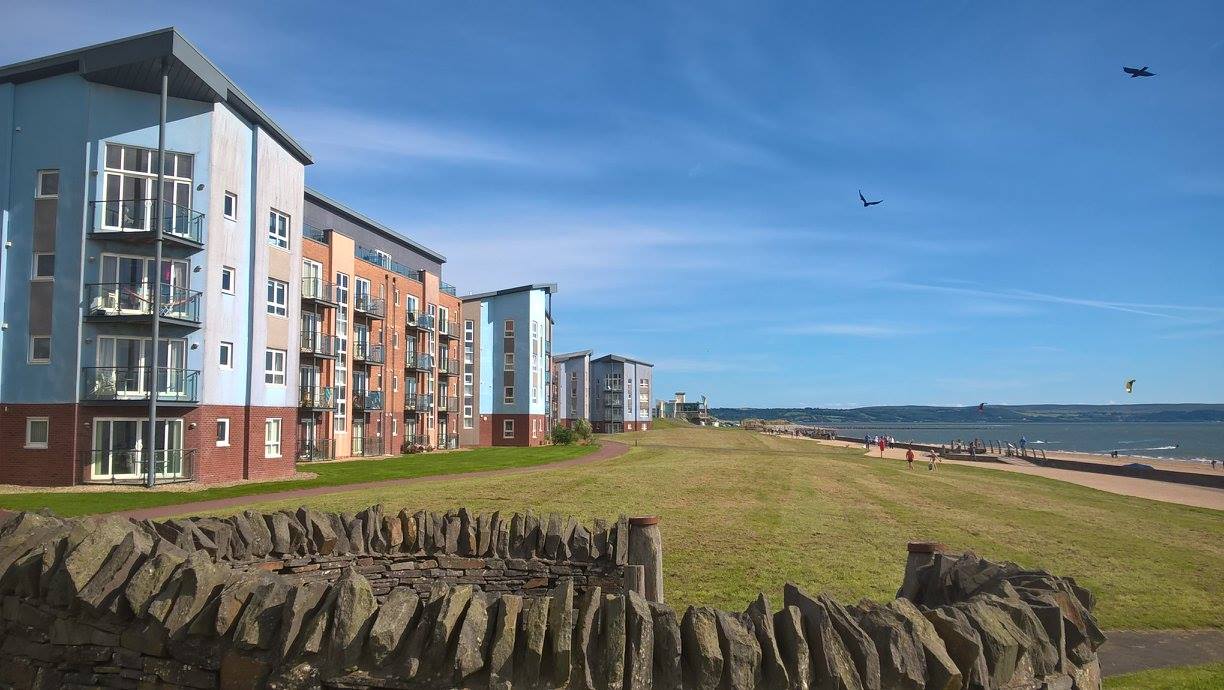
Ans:
[[[1097,593],[1105,628],[1222,625],[1220,511],[988,469],[907,471],[854,449],[739,429],[617,438],[629,453],[594,465],[338,493],[312,504],[657,514],[666,595],[681,606],[741,609],[758,591],[776,603],[786,581],[842,601],[889,599],[906,542],[934,540],[1073,575]]]

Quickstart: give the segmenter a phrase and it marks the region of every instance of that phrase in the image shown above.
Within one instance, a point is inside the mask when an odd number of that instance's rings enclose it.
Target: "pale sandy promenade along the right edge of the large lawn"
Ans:
[[[815,440],[815,443],[821,443],[825,445],[838,445],[842,448],[858,448],[862,449],[862,443],[851,443],[845,440]],[[880,454],[873,448],[870,453],[865,453],[871,458],[879,458]],[[903,448],[889,448],[884,451],[885,458],[894,460],[905,460],[906,451]],[[1100,461],[1100,460],[1094,460]],[[1142,460],[1138,460],[1142,461]],[[1073,484],[1080,484],[1094,489],[1106,491],[1109,493],[1116,493],[1121,495],[1133,495],[1137,498],[1148,498],[1152,500],[1163,500],[1166,503],[1180,503],[1182,505],[1193,505],[1197,508],[1211,508],[1214,510],[1224,510],[1224,489],[1208,488],[1179,484],[1173,482],[1162,482],[1155,480],[1143,480],[1138,477],[1120,477],[1115,475],[1098,475],[1094,472],[1080,472],[1076,470],[1059,470],[1055,467],[1039,467],[1037,465],[1009,465],[1004,462],[973,462],[968,460],[941,460],[941,462],[949,462],[952,465],[967,465],[972,467],[982,467],[985,470],[999,470],[1002,472],[1018,472],[1022,475],[1033,475],[1038,477],[1047,477],[1050,480],[1059,480],[1062,482],[1070,482]],[[922,467],[925,471],[925,462],[914,462],[916,467]],[[1197,469],[1196,469],[1197,470]],[[917,470],[916,470],[917,471]]]

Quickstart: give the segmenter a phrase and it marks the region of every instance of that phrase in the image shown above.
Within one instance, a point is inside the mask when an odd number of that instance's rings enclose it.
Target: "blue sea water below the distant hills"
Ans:
[[[897,440],[917,443],[949,443],[953,439],[1000,440],[1020,444],[1028,439],[1029,448],[1075,450],[1108,455],[1140,455],[1169,460],[1209,462],[1224,460],[1224,423],[1021,423],[1021,425],[945,425],[906,423],[897,426],[838,427],[841,436],[884,434]]]

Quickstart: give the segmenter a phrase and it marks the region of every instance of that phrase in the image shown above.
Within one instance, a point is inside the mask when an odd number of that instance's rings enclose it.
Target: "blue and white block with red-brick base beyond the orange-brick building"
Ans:
[[[534,284],[463,297],[461,444],[548,443],[556,292]]]

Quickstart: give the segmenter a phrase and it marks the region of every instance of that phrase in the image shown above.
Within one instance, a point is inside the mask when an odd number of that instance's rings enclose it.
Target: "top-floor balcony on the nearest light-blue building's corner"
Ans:
[[[113,199],[89,202],[94,240],[153,242],[157,240],[157,199]],[[162,214],[162,237],[190,250],[204,247],[204,214],[185,206],[166,203]]]

